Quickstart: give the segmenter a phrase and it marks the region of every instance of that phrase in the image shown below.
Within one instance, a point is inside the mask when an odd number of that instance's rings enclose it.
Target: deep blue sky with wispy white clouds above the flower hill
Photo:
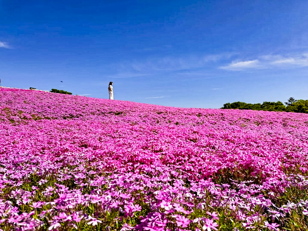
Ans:
[[[308,1],[0,0],[7,87],[175,107],[308,99]],[[60,81],[63,81],[61,83]]]

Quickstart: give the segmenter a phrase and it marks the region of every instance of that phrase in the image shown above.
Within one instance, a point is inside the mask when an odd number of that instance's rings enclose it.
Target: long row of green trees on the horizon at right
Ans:
[[[246,110],[259,110],[259,111],[287,111],[287,112],[301,112],[308,113],[308,100],[288,99],[288,102],[283,104],[281,101],[277,102],[263,102],[261,103],[244,103],[234,102],[225,103],[221,109],[246,109]]]

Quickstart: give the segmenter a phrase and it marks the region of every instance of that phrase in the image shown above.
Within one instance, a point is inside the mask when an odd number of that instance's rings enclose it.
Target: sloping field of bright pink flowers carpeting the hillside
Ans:
[[[0,99],[0,230],[308,230],[307,114]]]

